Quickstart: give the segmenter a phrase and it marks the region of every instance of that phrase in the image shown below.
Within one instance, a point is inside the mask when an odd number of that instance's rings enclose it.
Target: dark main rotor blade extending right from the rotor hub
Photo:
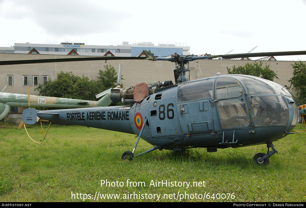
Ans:
[[[264,53],[246,53],[246,54],[224,54],[211,55],[211,58],[247,58],[247,57],[262,57],[262,56],[290,56],[290,55],[306,55],[306,51],[283,51],[283,52],[264,52]]]

